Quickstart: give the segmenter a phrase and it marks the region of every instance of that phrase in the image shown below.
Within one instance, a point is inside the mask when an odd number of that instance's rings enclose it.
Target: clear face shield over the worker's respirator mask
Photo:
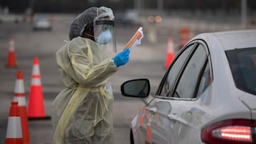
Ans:
[[[97,20],[93,24],[95,42],[100,45],[105,57],[116,54],[116,41],[114,38],[114,21]]]

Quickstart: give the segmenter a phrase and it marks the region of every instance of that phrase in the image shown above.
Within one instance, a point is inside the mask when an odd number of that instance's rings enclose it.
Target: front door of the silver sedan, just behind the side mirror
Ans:
[[[194,43],[188,46],[188,48],[181,50],[176,58],[171,64],[171,69],[166,71],[164,79],[160,85],[164,85],[161,95],[165,97],[168,95],[171,87],[173,87],[176,77],[178,76],[180,70],[183,67],[183,63],[187,60],[188,55],[190,55]],[[158,90],[159,91],[159,90]],[[157,92],[156,92],[157,93]],[[171,106],[168,101],[165,99],[159,99],[156,96],[154,101],[145,107],[144,111],[144,121],[140,127],[140,143],[168,143],[168,136],[166,133],[166,125],[168,125],[168,115],[171,111]]]

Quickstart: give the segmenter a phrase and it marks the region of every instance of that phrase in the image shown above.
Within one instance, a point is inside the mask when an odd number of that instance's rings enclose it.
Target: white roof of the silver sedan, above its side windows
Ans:
[[[202,33],[192,40],[203,39],[206,43],[215,41],[215,43],[222,45],[224,50],[233,50],[240,48],[256,48],[255,38],[256,30],[241,30]]]

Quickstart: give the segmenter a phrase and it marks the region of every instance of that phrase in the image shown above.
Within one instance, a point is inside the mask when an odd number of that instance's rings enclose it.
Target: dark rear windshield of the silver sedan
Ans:
[[[228,50],[226,55],[236,87],[256,95],[256,48]]]

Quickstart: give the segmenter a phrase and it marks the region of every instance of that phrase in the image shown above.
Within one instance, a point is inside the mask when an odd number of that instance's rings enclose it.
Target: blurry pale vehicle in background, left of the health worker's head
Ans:
[[[52,31],[52,22],[49,16],[34,16],[33,31],[47,30]]]

